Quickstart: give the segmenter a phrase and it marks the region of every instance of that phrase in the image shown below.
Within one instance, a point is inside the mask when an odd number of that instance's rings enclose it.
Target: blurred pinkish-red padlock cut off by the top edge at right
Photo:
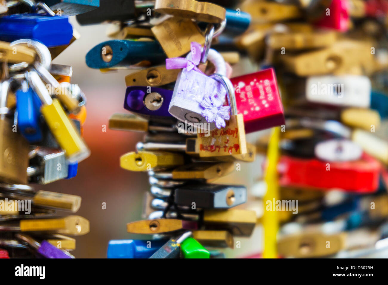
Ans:
[[[350,27],[348,0],[333,0],[329,7],[330,15],[325,10],[325,14],[315,22],[315,25],[321,28],[336,29],[341,32],[346,32]]]

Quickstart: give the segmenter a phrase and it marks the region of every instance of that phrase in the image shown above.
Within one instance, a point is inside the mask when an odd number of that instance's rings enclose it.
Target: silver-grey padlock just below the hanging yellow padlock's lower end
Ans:
[[[30,183],[48,184],[66,178],[69,166],[63,150],[41,147],[30,160],[30,168],[35,170],[29,173]]]

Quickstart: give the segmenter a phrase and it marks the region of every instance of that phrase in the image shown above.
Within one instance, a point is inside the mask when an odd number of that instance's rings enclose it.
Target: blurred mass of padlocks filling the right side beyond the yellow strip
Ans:
[[[277,211],[277,256],[386,257],[387,2],[265,3],[242,6],[268,8],[268,21],[239,45],[274,66],[285,106],[277,139],[257,143],[266,151],[279,140],[278,198],[263,201],[265,213]]]

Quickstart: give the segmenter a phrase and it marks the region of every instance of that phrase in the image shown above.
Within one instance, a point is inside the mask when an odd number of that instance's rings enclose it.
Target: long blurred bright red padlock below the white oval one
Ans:
[[[376,191],[381,172],[380,162],[367,154],[358,161],[330,163],[283,155],[277,167],[281,186],[340,188],[359,193]]]

